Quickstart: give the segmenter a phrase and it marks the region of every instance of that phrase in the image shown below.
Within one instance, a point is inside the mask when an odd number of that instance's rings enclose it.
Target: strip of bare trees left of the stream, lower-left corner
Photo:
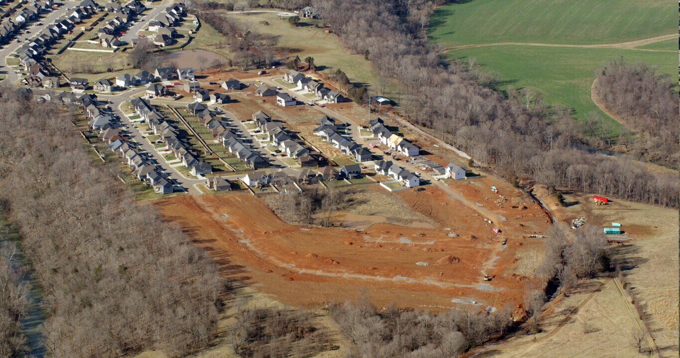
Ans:
[[[5,240],[0,239],[0,357],[20,357],[27,353],[21,321],[29,310],[29,287],[22,281],[16,246]]]

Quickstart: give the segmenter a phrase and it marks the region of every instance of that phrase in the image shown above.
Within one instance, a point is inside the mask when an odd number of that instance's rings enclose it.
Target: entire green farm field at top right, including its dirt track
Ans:
[[[670,6],[635,0],[519,5],[474,0],[439,8],[430,20],[430,40],[445,48],[451,60],[474,59],[482,71],[498,73],[500,90],[532,88],[549,105],[573,109],[581,122],[599,113],[615,138],[630,131],[590,98],[596,71],[623,56],[629,63],[657,66],[660,73],[677,73],[676,20]]]

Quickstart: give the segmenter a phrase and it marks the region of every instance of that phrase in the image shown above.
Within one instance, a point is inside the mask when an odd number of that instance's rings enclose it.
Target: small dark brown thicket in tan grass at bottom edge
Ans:
[[[305,310],[241,308],[229,329],[240,357],[311,357],[333,348],[330,337]]]

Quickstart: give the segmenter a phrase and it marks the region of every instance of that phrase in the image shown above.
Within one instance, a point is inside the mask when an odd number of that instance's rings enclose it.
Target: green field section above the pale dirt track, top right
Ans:
[[[668,0],[471,0],[440,7],[430,39],[471,43],[619,43],[677,31]],[[677,49],[676,49],[677,50]]]

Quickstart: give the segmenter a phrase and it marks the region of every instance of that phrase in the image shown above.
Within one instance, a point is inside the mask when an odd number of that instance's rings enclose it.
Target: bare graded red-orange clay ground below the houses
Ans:
[[[460,297],[490,306],[522,301],[528,281],[517,280],[511,271],[521,245],[541,245],[539,240],[522,238],[535,228],[511,220],[502,234],[494,234],[491,224],[475,211],[435,187],[399,195],[440,227],[377,223],[365,231],[303,228],[285,223],[260,200],[239,192],[175,196],[155,205],[165,219],[179,223],[196,245],[214,256],[225,276],[292,306],[352,300],[364,288],[381,306],[396,302],[439,310],[455,306],[451,299]],[[540,212],[534,207],[526,210]],[[526,220],[528,226],[547,227],[545,218]],[[459,236],[449,237],[453,232]],[[503,237],[509,238],[505,248],[500,245]],[[482,271],[494,280],[484,282]]]

